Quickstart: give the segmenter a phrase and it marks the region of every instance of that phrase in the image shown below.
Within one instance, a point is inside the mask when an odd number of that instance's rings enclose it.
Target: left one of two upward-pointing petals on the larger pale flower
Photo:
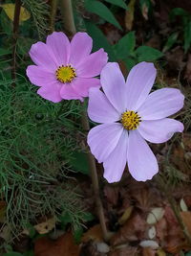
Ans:
[[[125,111],[127,90],[123,75],[116,62],[107,63],[101,71],[100,81],[110,103],[118,112]]]

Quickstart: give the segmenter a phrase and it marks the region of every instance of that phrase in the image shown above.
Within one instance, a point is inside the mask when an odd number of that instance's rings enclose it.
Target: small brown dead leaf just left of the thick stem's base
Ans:
[[[101,231],[101,226],[100,224],[96,224],[92,228],[90,228],[86,233],[84,233],[81,241],[86,243],[90,240],[94,240],[96,242],[101,242],[103,241],[103,235]]]

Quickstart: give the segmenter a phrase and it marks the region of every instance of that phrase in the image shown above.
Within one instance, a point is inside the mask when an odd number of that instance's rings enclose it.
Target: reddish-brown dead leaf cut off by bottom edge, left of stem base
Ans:
[[[47,237],[39,238],[34,243],[35,256],[78,256],[79,245],[74,244],[72,232],[53,241]]]

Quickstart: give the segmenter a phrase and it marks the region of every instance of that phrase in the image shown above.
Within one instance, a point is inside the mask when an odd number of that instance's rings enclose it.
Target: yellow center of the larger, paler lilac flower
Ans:
[[[120,122],[123,125],[123,128],[130,130],[137,129],[141,120],[138,116],[138,112],[128,110],[122,113]]]

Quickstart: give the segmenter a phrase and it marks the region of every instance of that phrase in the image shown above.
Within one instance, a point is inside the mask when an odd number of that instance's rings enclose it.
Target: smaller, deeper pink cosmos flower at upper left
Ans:
[[[40,86],[37,93],[53,103],[62,99],[87,97],[91,87],[100,87],[98,76],[107,63],[103,49],[91,54],[92,38],[76,33],[70,42],[62,32],[47,36],[46,43],[32,44],[30,56],[35,65],[28,66],[30,81]]]

